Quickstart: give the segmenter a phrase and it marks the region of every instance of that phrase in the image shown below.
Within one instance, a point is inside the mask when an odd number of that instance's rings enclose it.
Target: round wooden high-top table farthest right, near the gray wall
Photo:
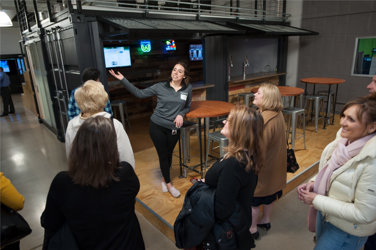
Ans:
[[[331,125],[334,125],[334,114],[335,114],[335,105],[337,104],[338,84],[344,83],[345,80],[344,79],[340,79],[340,78],[309,77],[309,78],[303,78],[300,81],[302,83],[306,84],[305,93],[307,91],[307,83],[313,84],[313,94],[315,94],[315,86],[316,86],[316,84],[327,84],[327,85],[329,85],[328,99],[327,99],[327,102],[326,102],[326,112],[325,112],[325,118],[324,118],[325,121],[324,121],[324,127],[323,127],[323,129],[326,130],[326,128],[325,128],[326,127],[326,121],[330,120],[332,117],[333,117],[333,119],[332,119],[332,124]],[[333,115],[330,116],[330,117],[327,117],[327,114],[328,114],[328,111],[329,111],[330,87],[333,84],[337,84],[337,87],[336,87],[336,90],[335,90],[334,104],[333,104]]]

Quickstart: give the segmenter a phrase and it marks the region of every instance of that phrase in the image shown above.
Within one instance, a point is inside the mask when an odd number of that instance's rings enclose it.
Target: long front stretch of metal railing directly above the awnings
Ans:
[[[156,5],[155,2],[158,2]],[[111,0],[86,0],[82,5],[123,9],[124,11],[145,12],[153,14],[176,14],[182,12],[184,15],[196,15],[200,17],[221,17],[243,20],[262,20],[262,21],[284,21],[290,17],[290,14],[284,13],[285,4],[282,0],[267,1],[210,1],[214,4],[200,2],[209,1],[111,1]],[[150,3],[150,4],[149,4]],[[236,6],[232,6],[232,3]],[[175,12],[176,11],[176,12]],[[167,13],[166,13],[167,12]]]

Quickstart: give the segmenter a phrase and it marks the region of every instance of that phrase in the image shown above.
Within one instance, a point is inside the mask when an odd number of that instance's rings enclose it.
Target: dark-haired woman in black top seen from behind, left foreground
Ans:
[[[86,119],[68,164],[47,196],[41,218],[46,232],[56,232],[66,222],[79,249],[145,249],[135,214],[140,185],[132,166],[119,163],[114,123],[103,116]]]

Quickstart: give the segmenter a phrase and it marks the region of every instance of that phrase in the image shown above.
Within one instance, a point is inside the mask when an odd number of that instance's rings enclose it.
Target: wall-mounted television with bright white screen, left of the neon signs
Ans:
[[[130,67],[129,47],[105,47],[106,68]]]

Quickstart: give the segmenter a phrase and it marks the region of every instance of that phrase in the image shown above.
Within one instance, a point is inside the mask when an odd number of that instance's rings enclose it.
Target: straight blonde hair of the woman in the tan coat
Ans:
[[[264,96],[262,96],[262,103],[261,103],[261,110],[271,110],[280,112],[284,109],[284,105],[282,102],[281,93],[277,86],[270,84],[270,83],[262,83],[261,84],[262,92],[264,92]]]

